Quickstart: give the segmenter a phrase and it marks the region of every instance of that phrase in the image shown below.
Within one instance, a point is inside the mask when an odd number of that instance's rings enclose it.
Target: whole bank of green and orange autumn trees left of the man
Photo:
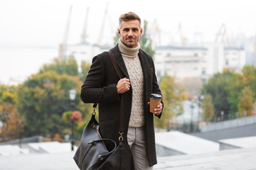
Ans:
[[[78,74],[78,64],[70,56],[67,61],[59,62],[55,59],[53,63],[44,64],[38,74],[31,75],[19,86],[0,85],[0,116],[4,112],[11,116],[11,120],[6,119],[9,125],[4,123],[9,128],[5,128],[1,135],[16,130],[20,118],[24,125],[23,135],[26,137],[53,137],[56,133],[65,135],[71,124],[63,121],[62,116],[65,111],[73,109],[70,106],[69,91],[75,89],[75,109],[78,114],[73,116],[78,115],[79,121],[83,118],[81,123],[75,123],[78,125],[75,127],[75,136],[79,138],[92,111],[92,104],[82,103],[79,93],[82,85],[80,79],[85,79],[89,69],[90,64],[82,62],[82,72]]]

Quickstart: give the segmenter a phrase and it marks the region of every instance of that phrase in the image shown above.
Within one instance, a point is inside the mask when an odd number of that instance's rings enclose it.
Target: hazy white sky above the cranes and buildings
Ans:
[[[107,16],[102,30],[105,8]],[[228,36],[256,34],[254,0],[0,0],[0,47],[58,47],[63,42],[72,6],[68,44],[80,42],[87,7],[87,41],[112,41],[120,14],[134,11],[142,21],[159,25],[161,43],[180,40],[178,25],[188,42],[197,33],[203,42],[215,40],[225,23]]]

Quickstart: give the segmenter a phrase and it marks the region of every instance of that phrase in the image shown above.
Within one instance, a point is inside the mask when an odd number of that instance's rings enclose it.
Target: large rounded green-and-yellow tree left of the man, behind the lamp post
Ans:
[[[49,71],[34,74],[23,85],[18,87],[19,113],[25,118],[24,133],[26,136],[62,133],[67,124],[62,114],[70,110],[70,89],[80,91],[82,82],[79,77],[57,74]],[[79,98],[75,98],[79,111],[85,113],[85,107]]]

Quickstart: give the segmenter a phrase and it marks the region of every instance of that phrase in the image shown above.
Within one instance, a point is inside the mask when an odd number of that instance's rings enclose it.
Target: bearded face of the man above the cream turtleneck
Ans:
[[[140,28],[138,20],[122,21],[118,33],[127,47],[137,47],[139,38],[142,35],[142,28]]]

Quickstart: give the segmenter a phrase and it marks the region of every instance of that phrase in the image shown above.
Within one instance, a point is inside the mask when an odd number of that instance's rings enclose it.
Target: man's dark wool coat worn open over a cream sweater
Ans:
[[[118,45],[111,49],[117,65],[124,77],[129,79],[127,69],[122,59]],[[154,137],[153,114],[149,112],[150,94],[161,94],[155,75],[154,62],[146,52],[139,50],[139,60],[144,75],[144,114],[146,118],[146,144],[149,165],[156,164],[156,148]],[[92,66],[81,89],[81,99],[85,103],[99,103],[100,132],[103,138],[110,138],[117,142],[119,137],[120,97],[117,94],[119,77],[114,70],[110,56],[102,52],[92,59]],[[132,86],[124,93],[124,141],[127,141],[129,118],[132,109]],[[161,115],[159,115],[159,118]],[[128,144],[126,146],[129,147]]]

